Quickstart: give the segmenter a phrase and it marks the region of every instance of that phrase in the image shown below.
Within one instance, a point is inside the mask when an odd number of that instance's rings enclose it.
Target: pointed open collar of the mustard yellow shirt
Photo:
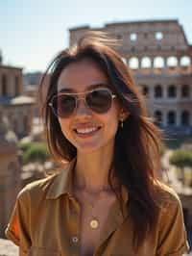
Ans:
[[[77,158],[74,158],[69,164],[60,171],[58,175],[54,178],[51,183],[46,198],[56,199],[61,194],[73,195],[73,177],[74,177],[74,167],[76,165]],[[125,186],[122,185],[121,189],[123,202],[126,204],[129,199],[129,193]]]

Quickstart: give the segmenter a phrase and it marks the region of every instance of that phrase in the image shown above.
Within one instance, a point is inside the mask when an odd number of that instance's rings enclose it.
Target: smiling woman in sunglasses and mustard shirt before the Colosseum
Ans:
[[[113,46],[104,34],[87,33],[51,64],[47,141],[58,163],[68,164],[19,193],[6,234],[20,255],[188,249],[180,199],[156,174],[160,132]]]

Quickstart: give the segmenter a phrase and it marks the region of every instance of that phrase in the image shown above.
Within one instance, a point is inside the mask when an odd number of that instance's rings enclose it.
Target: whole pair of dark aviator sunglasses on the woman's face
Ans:
[[[116,95],[108,89],[95,89],[80,93],[61,92],[54,95],[48,105],[56,116],[66,118],[76,112],[78,101],[84,99],[85,106],[91,111],[105,114],[115,97]]]

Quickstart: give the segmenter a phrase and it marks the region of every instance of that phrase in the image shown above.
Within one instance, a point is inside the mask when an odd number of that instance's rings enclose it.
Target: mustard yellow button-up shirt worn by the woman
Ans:
[[[80,256],[81,209],[72,194],[72,161],[65,169],[27,185],[17,196],[7,237],[31,256]],[[94,256],[180,256],[189,248],[180,199],[168,189],[152,236],[139,251],[132,249],[132,219],[126,204],[129,192],[122,190],[123,217],[116,201],[109,212]]]

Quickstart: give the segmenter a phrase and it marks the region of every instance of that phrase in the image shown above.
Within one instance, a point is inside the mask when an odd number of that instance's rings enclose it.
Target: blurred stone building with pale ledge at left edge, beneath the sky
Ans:
[[[22,69],[0,64],[0,106],[18,138],[32,129],[35,100],[24,96]]]

